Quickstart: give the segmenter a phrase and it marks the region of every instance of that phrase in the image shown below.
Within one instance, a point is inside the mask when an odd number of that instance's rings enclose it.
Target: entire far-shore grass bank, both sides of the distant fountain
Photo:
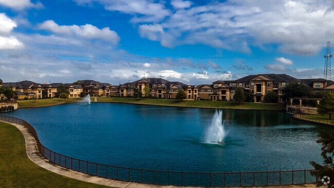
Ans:
[[[91,97],[94,102],[95,97]],[[80,98],[59,99],[36,99],[18,101],[19,108],[43,107],[68,103],[81,102]],[[131,104],[147,104],[160,106],[179,106],[179,107],[197,107],[197,108],[221,108],[221,109],[255,109],[255,110],[279,110],[284,111],[285,107],[282,103],[253,103],[253,102],[229,102],[229,101],[204,101],[204,100],[175,100],[175,99],[137,99],[128,97],[97,97],[97,102],[108,103],[131,103]]]

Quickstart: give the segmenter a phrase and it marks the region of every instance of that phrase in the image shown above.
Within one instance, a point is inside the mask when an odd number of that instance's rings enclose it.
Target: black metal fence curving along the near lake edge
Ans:
[[[37,142],[40,154],[50,162],[91,176],[156,185],[202,187],[292,185],[317,182],[316,177],[311,175],[314,170],[234,173],[172,172],[89,162],[64,156],[44,147],[39,141],[35,129],[24,120],[3,115],[0,115],[0,120],[17,123],[28,128]]]

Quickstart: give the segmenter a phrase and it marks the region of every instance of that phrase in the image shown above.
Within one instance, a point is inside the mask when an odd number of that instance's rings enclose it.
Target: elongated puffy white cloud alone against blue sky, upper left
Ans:
[[[65,35],[77,35],[87,39],[103,39],[106,41],[111,41],[117,44],[120,37],[115,31],[109,29],[109,27],[104,27],[102,29],[96,26],[86,24],[82,26],[71,25],[71,26],[60,26],[52,20],[48,20],[39,25],[40,29],[49,30],[54,33],[60,33]]]

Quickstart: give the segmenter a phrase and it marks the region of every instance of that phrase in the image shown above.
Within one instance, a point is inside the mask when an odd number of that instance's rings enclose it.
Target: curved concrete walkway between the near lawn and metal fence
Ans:
[[[68,170],[67,168],[64,168],[62,166],[59,165],[55,165],[53,163],[50,163],[49,160],[43,158],[37,148],[37,144],[35,139],[33,138],[33,136],[30,134],[29,130],[27,128],[25,128],[23,125],[19,125],[16,123],[11,123],[11,122],[7,122],[7,121],[0,121],[0,122],[4,122],[4,123],[8,123],[11,125],[14,125],[15,127],[17,127],[19,130],[21,130],[25,141],[26,141],[26,150],[27,150],[27,155],[29,157],[29,159],[38,164],[39,166],[45,168],[46,170],[49,170],[51,172],[69,177],[69,178],[74,178],[74,179],[78,179],[81,181],[86,181],[86,182],[90,182],[90,183],[97,183],[97,184],[101,184],[101,185],[107,185],[107,186],[113,186],[113,187],[122,187],[122,188],[141,188],[141,187],[180,187],[180,186],[160,186],[160,185],[152,185],[152,184],[143,184],[143,183],[135,183],[135,182],[126,182],[126,181],[118,181],[118,180],[112,180],[112,179],[107,179],[107,178],[100,178],[100,177],[96,177],[96,176],[90,176],[87,174],[83,174],[83,173],[79,173],[77,171],[72,171],[72,170]],[[268,186],[268,187],[282,187],[282,188],[313,188],[316,187],[315,184],[302,184],[302,185],[285,185],[285,186]]]

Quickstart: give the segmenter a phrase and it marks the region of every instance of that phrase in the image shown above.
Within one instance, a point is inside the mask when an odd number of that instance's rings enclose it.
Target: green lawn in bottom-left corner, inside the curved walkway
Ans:
[[[0,122],[0,187],[108,187],[50,172],[27,156],[24,137],[13,125]]]

